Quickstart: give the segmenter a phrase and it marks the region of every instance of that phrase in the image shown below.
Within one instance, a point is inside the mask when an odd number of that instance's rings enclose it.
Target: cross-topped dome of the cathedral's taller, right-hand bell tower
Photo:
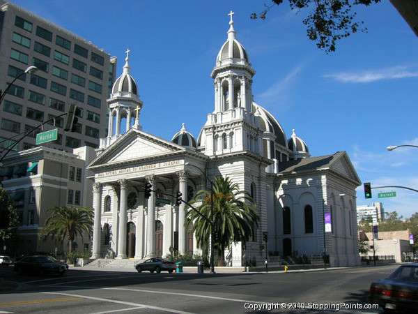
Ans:
[[[236,39],[236,31],[233,28],[232,20],[233,12],[231,12],[230,15],[231,21],[229,22],[229,25],[231,25],[231,27],[228,31],[228,39],[224,45],[222,45],[221,50],[219,50],[216,58],[217,66],[224,63],[249,63],[247,51]]]

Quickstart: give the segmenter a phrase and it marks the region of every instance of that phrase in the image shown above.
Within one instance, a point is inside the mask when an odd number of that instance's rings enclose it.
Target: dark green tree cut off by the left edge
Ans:
[[[10,241],[17,239],[19,220],[15,202],[10,194],[0,186],[0,246],[10,251]]]

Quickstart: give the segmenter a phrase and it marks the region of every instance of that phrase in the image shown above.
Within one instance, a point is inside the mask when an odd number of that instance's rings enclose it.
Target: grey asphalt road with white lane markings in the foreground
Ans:
[[[18,276],[1,267],[0,286],[18,285],[3,289],[0,313],[382,313],[364,308],[369,285],[396,267],[239,274],[70,269],[63,277]]]

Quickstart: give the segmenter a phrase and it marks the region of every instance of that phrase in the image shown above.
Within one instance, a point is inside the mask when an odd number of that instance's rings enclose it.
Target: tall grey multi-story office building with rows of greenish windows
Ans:
[[[107,135],[106,99],[115,79],[116,58],[84,38],[3,0],[0,55],[3,91],[29,66],[38,68],[34,74],[19,77],[0,104],[0,154],[19,140],[13,151],[36,147],[36,134],[52,128],[58,128],[58,140],[43,146],[63,151],[84,145],[98,147],[99,138]],[[78,109],[74,132],[63,131],[65,115],[42,129],[36,128],[65,114],[71,103]],[[22,138],[25,133],[29,134]]]

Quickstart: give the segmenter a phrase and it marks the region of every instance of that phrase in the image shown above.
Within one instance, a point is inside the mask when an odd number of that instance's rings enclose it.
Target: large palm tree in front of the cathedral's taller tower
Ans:
[[[206,246],[210,239],[208,219],[210,219],[211,197],[213,197],[215,245],[219,253],[218,266],[224,266],[225,249],[229,248],[233,241],[242,241],[245,245],[258,226],[258,214],[255,210],[256,204],[247,191],[239,190],[238,184],[233,184],[228,177],[215,177],[213,195],[208,188],[199,190],[191,202],[199,206],[196,211],[189,209],[186,214],[187,228],[192,226],[198,248]]]

